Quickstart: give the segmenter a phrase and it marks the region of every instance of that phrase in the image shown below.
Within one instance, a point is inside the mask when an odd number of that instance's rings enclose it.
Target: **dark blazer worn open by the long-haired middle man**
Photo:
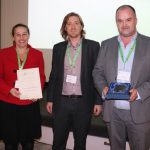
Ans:
[[[64,58],[67,49],[67,41],[54,45],[52,57],[52,70],[48,86],[48,102],[53,102],[53,111],[57,110],[63,87]],[[81,90],[84,105],[88,111],[93,110],[94,104],[101,104],[101,98],[94,88],[92,71],[96,63],[100,49],[98,42],[83,39],[81,57]]]

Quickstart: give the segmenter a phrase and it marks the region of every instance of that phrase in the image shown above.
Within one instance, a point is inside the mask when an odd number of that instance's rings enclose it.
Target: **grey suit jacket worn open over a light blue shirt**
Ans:
[[[102,42],[93,70],[94,84],[102,94],[105,86],[115,82],[118,70],[117,36]],[[131,84],[138,90],[141,100],[130,102],[131,115],[135,123],[150,121],[150,37],[138,33],[131,71]],[[104,102],[103,118],[111,120],[114,101]]]

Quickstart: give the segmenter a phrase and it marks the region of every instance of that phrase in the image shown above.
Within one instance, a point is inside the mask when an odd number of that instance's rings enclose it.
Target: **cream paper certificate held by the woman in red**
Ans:
[[[39,68],[17,70],[17,77],[15,88],[19,89],[21,100],[42,98]]]

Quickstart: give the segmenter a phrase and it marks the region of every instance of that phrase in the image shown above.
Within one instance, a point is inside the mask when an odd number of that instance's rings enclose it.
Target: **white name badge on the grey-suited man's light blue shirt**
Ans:
[[[117,81],[130,82],[130,72],[118,71]]]

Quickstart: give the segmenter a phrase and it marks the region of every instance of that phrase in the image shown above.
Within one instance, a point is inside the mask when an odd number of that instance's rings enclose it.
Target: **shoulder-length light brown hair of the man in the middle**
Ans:
[[[79,14],[75,13],[75,12],[71,12],[69,14],[67,14],[63,20],[63,23],[62,23],[62,26],[61,26],[61,29],[60,29],[60,33],[63,37],[64,40],[67,40],[67,37],[68,37],[68,34],[67,34],[67,31],[66,31],[66,24],[67,24],[67,21],[69,20],[70,17],[72,16],[76,16],[79,18],[79,21],[80,21],[80,24],[82,26],[82,30],[81,30],[81,37],[84,38],[85,37],[85,31],[83,30],[84,28],[84,23],[83,23],[83,20],[82,18],[80,17]]]

